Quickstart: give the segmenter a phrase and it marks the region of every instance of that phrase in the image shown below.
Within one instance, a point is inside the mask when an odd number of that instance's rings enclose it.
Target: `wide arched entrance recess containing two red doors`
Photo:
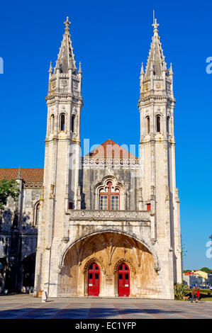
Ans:
[[[146,244],[115,231],[97,232],[67,244],[60,261],[58,295],[142,298],[155,295],[159,262],[155,252],[150,251],[151,245]],[[120,273],[123,273],[122,291]],[[150,291],[152,283],[155,289]]]

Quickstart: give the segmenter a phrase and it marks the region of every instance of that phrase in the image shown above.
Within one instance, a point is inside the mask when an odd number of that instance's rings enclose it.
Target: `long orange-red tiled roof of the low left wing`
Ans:
[[[19,168],[0,168],[0,180],[18,178]],[[24,181],[43,181],[43,169],[21,169],[21,179]]]

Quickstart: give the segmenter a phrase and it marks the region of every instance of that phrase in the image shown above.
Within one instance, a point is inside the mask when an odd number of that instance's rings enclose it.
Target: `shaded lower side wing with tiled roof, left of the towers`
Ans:
[[[43,169],[0,169],[0,179],[16,179],[18,200],[9,198],[0,221],[0,293],[33,291]]]

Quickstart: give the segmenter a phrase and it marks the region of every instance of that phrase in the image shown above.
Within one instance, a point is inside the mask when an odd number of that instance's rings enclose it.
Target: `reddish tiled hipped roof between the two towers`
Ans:
[[[106,142],[99,145],[99,147],[89,152],[86,156],[98,158],[137,158],[111,139],[106,140]]]

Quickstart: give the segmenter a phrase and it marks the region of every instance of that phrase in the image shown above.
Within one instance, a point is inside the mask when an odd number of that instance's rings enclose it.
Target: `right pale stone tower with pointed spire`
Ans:
[[[164,279],[182,281],[179,197],[175,174],[172,64],[164,60],[157,20],[147,66],[140,71],[140,162],[143,201],[151,207],[151,242],[166,263]]]

